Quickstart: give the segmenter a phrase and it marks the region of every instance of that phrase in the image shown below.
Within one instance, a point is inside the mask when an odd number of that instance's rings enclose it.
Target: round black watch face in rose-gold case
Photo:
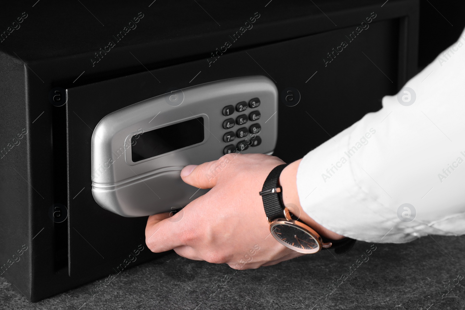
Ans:
[[[294,222],[299,223],[300,222]],[[286,247],[300,253],[315,253],[320,250],[320,244],[305,228],[285,220],[275,221],[270,226],[273,237]],[[303,224],[302,226],[306,226]]]

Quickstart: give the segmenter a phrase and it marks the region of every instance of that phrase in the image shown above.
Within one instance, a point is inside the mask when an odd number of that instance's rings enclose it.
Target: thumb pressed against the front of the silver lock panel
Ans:
[[[240,155],[231,153],[198,166],[188,165],[181,171],[181,178],[187,184],[198,188],[213,188],[221,171],[225,170],[236,156]]]

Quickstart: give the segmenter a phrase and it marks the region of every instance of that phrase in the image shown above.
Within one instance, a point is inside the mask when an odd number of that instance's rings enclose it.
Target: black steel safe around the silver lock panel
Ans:
[[[419,2],[383,2],[8,5],[1,274],[37,301],[159,255],[145,245],[146,217],[118,216],[93,199],[91,138],[110,112],[173,89],[264,75],[280,97],[274,155],[291,162],[379,110],[416,73],[418,52]]]

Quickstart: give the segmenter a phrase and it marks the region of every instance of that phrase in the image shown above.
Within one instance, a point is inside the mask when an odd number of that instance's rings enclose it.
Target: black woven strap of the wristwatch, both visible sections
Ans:
[[[278,165],[266,177],[260,195],[263,200],[263,207],[265,208],[266,217],[271,222],[275,218],[284,218],[284,202],[282,197],[282,188],[279,185],[279,176],[281,172],[289,164]],[[320,236],[323,243],[331,242],[331,248],[334,253],[343,255],[352,249],[355,244],[355,239],[345,237],[340,240],[330,240]]]

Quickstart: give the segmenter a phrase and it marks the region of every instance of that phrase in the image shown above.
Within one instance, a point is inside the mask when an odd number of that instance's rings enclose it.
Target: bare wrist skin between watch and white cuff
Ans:
[[[294,161],[284,168],[279,176],[279,184],[282,188],[282,197],[284,205],[292,212],[292,214],[299,217],[299,220],[306,223],[312,229],[319,233],[320,236],[326,237],[332,240],[339,240],[344,238],[334,231],[330,231],[315,222],[300,205],[299,192],[297,191],[297,170],[302,159]],[[296,210],[293,210],[296,209]]]

